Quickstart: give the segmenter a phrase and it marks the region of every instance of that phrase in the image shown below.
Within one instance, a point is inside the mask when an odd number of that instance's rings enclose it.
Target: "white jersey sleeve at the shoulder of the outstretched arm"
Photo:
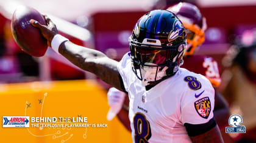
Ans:
[[[129,64],[131,64],[130,52],[126,53],[117,65],[119,75],[123,79],[123,85],[124,85],[124,89],[126,91],[128,91],[128,85],[129,85],[129,83],[128,83],[129,80],[127,78],[127,72],[132,71],[132,69],[129,69],[130,68]]]

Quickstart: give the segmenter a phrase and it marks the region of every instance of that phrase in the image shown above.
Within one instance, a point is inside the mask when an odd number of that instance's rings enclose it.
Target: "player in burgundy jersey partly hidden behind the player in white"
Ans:
[[[195,49],[204,42],[204,32],[207,28],[205,18],[201,15],[200,10],[195,5],[188,2],[180,2],[179,4],[169,7],[167,10],[174,12],[186,28],[187,47],[185,48],[185,55],[183,58],[185,62],[182,67],[193,71],[194,73],[204,75],[212,83],[213,87],[218,87],[221,82],[218,63],[211,57],[193,55]],[[108,104],[110,105],[108,119],[112,119],[113,116],[118,113],[118,118],[123,124],[126,122],[124,125],[127,129],[130,129],[129,124],[127,124],[126,121],[127,119],[124,118],[124,116],[128,117],[126,106],[129,105],[122,105],[123,102],[123,93],[114,88],[110,88],[108,91]],[[123,110],[121,110],[122,106]],[[121,112],[119,113],[119,111]],[[216,90],[214,114],[219,128],[225,128],[228,125],[229,106],[226,100],[219,95]],[[112,118],[110,118],[110,116]]]

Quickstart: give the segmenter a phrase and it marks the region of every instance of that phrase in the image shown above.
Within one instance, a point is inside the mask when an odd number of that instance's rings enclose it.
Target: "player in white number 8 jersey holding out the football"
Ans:
[[[214,89],[202,75],[179,68],[185,28],[166,10],[142,16],[130,36],[130,52],[118,63],[80,47],[31,20],[51,47],[78,67],[129,94],[133,142],[223,142],[213,118]]]

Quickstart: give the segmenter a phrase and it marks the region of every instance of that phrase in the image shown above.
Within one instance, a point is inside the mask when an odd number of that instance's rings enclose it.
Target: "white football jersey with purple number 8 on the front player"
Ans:
[[[213,118],[215,91],[202,75],[179,68],[174,76],[146,90],[132,71],[130,53],[118,64],[129,94],[133,142],[191,142],[184,126]]]

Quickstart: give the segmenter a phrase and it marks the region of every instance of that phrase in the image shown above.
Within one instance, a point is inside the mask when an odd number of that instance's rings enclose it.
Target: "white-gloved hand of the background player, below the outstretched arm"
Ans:
[[[126,93],[119,91],[114,87],[108,90],[107,100],[108,105],[110,105],[110,110],[107,113],[108,121],[111,121],[116,116],[116,114],[119,113],[123,106],[125,96]]]

